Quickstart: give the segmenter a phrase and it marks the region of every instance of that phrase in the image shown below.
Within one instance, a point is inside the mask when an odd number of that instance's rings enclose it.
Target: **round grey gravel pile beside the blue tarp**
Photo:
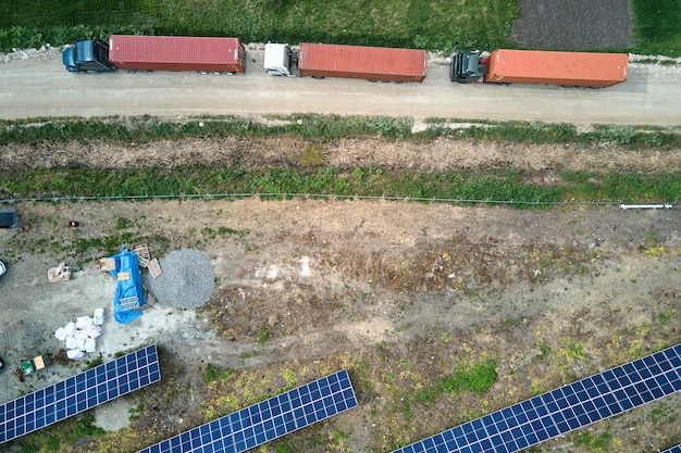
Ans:
[[[213,267],[208,254],[183,249],[159,259],[161,274],[147,275],[147,288],[163,304],[178,309],[196,309],[210,299],[215,288]]]

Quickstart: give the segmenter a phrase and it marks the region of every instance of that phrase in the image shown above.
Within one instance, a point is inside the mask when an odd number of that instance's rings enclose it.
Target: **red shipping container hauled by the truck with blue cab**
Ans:
[[[109,60],[122,70],[243,73],[246,50],[237,38],[109,37]]]

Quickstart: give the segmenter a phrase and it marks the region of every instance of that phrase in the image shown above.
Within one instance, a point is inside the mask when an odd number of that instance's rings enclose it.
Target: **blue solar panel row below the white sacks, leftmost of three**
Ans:
[[[0,443],[161,379],[156,344],[0,405]]]

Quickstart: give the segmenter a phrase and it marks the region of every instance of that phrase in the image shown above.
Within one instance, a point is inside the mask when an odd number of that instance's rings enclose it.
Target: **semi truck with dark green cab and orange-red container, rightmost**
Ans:
[[[499,49],[456,52],[449,78],[460,84],[544,84],[609,87],[627,80],[627,53]]]

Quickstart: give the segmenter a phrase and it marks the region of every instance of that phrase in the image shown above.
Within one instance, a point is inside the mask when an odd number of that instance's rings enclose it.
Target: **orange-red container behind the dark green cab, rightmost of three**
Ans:
[[[627,53],[499,49],[490,55],[485,81],[609,87],[627,80]]]

